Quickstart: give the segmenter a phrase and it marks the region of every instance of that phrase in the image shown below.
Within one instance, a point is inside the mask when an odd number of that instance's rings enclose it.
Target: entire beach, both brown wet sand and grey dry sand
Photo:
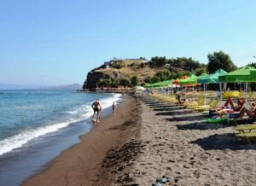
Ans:
[[[233,126],[150,97],[127,96],[111,115],[24,185],[255,185],[256,145]]]

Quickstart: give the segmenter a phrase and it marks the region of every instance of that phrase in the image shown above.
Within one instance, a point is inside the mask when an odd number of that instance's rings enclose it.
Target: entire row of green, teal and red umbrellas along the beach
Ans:
[[[190,75],[186,78],[176,80],[166,80],[155,84],[146,84],[145,88],[154,87],[167,87],[172,84],[219,84],[219,83],[246,83],[256,82],[256,68],[245,66],[238,68],[236,71],[226,73],[223,69],[218,69],[215,73],[206,74],[203,73],[201,76],[195,74]]]

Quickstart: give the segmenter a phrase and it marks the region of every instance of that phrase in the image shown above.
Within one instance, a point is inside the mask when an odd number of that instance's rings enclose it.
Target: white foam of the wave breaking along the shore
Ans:
[[[111,107],[113,102],[118,102],[120,99],[120,95],[114,94],[112,97],[102,99],[102,107],[109,108]],[[80,109],[76,108],[73,111],[70,111],[73,114],[79,113],[82,109],[81,114],[76,119],[68,119],[65,122],[57,123],[54,125],[46,125],[42,127],[38,127],[37,129],[26,130],[20,132],[13,137],[8,137],[0,141],[0,155],[6,154],[16,148],[21,148],[27,142],[31,141],[34,138],[42,137],[51,132],[59,131],[61,128],[65,128],[70,124],[79,122],[84,119],[88,119],[91,116],[91,108],[90,105],[83,105]]]

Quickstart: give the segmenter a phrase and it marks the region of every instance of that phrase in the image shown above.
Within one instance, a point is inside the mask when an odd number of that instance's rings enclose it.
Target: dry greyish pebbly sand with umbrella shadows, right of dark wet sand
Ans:
[[[170,185],[255,185],[256,145],[234,136],[234,126],[205,123],[201,113],[143,98],[143,154],[132,171],[140,185],[156,177]]]

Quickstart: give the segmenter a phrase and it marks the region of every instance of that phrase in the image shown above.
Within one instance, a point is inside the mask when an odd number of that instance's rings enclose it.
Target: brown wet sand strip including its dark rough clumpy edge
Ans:
[[[81,142],[64,151],[42,173],[24,185],[111,185],[123,184],[123,172],[139,153],[140,103],[127,96],[111,115],[81,137]]]

